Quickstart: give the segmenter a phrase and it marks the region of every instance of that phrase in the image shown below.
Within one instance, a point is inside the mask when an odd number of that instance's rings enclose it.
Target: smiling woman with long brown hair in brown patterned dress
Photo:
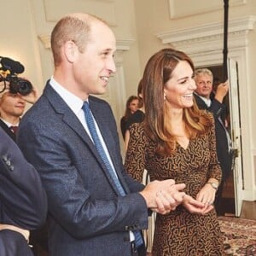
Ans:
[[[142,180],[173,178],[186,184],[183,203],[157,214],[153,255],[223,255],[224,245],[212,203],[221,169],[212,113],[194,104],[194,64],[176,49],[161,49],[143,73],[145,119],[131,126],[125,170]]]

